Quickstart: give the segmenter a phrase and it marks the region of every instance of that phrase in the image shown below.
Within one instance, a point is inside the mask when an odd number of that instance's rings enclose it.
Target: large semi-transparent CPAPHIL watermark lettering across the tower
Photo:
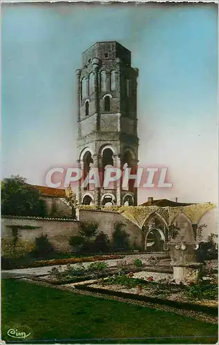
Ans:
[[[122,189],[133,184],[134,188],[171,188],[167,167],[135,167],[117,168],[109,166],[101,170],[89,168],[84,170],[78,167],[51,168],[46,174],[46,185],[52,188],[66,188],[70,185],[93,186],[93,188],[114,188],[121,184]]]

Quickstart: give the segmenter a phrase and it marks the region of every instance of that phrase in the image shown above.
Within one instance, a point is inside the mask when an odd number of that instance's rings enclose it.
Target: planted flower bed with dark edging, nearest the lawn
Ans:
[[[155,304],[166,304],[175,308],[202,311],[211,315],[218,314],[217,299],[191,298],[187,294],[188,286],[183,284],[155,283],[153,279],[148,279],[148,282],[145,282],[142,279],[133,279],[127,277],[127,275],[121,275],[120,277],[100,279],[98,283],[81,284],[75,286],[75,288]],[[200,298],[202,297],[200,296]]]

